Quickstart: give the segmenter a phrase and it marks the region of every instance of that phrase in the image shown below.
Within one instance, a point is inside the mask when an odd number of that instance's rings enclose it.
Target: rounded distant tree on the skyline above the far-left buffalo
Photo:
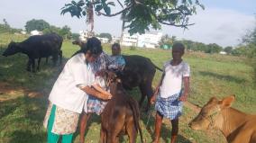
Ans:
[[[48,22],[45,22],[44,20],[35,20],[32,19],[31,21],[26,22],[25,29],[26,31],[43,31],[47,28],[50,28],[50,24]]]

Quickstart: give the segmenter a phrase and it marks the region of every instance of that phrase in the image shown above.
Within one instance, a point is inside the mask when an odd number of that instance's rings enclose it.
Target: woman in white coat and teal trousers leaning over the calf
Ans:
[[[111,94],[103,94],[91,88],[95,80],[92,63],[101,53],[100,40],[88,39],[87,49],[70,58],[60,73],[50,92],[50,105],[44,120],[48,143],[57,143],[60,135],[62,142],[71,143],[88,94],[103,100],[111,98]]]

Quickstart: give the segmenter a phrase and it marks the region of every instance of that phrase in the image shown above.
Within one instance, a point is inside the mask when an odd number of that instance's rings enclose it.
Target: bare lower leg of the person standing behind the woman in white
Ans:
[[[87,129],[87,121],[90,119],[92,113],[83,112],[80,121],[80,143],[85,142],[85,132]]]

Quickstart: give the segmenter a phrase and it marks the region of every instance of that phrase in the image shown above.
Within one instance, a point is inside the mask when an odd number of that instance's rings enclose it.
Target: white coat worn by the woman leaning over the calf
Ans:
[[[76,85],[92,85],[94,79],[91,64],[86,64],[85,55],[80,53],[66,63],[52,87],[49,100],[61,108],[81,113],[88,95]]]

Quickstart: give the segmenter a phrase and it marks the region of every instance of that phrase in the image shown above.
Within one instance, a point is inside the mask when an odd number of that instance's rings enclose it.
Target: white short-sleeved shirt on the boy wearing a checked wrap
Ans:
[[[171,95],[180,93],[184,76],[190,76],[189,65],[181,61],[177,66],[170,65],[170,61],[164,64],[165,76],[160,85],[160,97],[168,98]]]

